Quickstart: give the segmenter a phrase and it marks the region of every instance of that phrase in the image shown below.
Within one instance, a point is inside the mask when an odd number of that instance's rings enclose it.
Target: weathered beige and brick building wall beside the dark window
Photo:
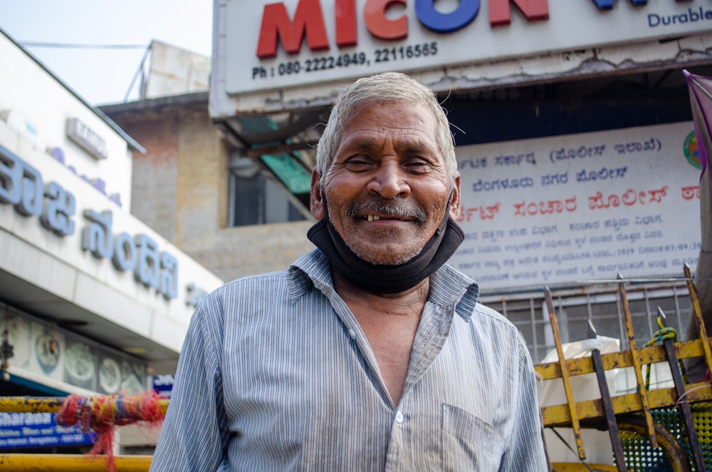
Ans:
[[[134,155],[133,215],[224,280],[286,269],[313,249],[313,223],[228,227],[229,145],[206,94],[194,98],[103,107],[147,150]]]

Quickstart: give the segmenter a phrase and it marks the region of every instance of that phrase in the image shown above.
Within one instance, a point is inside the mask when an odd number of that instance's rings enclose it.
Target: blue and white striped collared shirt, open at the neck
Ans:
[[[445,265],[394,405],[319,250],[192,317],[151,471],[545,471],[535,376],[507,319]]]

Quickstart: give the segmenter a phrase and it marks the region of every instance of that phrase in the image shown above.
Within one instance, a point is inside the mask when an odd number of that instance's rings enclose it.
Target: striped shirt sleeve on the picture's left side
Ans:
[[[211,336],[214,330],[209,329],[203,310],[199,305],[189,324],[150,472],[229,468],[219,343]]]

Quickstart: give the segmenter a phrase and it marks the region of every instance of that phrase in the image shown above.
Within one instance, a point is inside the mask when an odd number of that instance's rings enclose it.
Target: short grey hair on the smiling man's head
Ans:
[[[436,119],[436,143],[445,160],[445,168],[451,185],[457,175],[455,143],[450,133],[450,124],[435,93],[404,73],[385,72],[375,76],[360,78],[345,88],[338,96],[331,116],[319,140],[316,153],[316,168],[322,183],[331,168],[334,155],[341,142],[341,134],[357,113],[372,103],[404,101],[421,104],[432,111]]]

